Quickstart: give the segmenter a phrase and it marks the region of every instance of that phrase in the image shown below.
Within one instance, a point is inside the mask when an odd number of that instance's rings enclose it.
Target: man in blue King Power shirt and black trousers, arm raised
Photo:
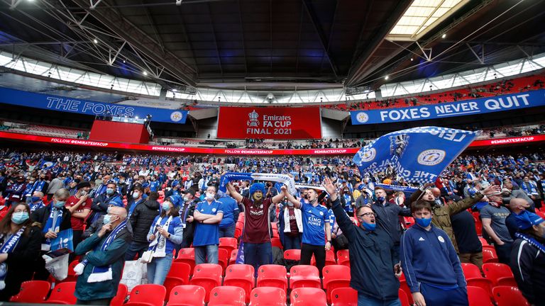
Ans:
[[[301,209],[303,215],[303,239],[301,246],[301,261],[299,264],[309,265],[314,254],[316,268],[321,276],[321,270],[326,265],[326,251],[331,249],[331,224],[329,223],[329,212],[327,208],[318,202],[319,193],[314,189],[307,191],[308,203],[299,201],[287,192],[282,186],[282,193],[287,197],[295,208]],[[283,196],[282,196],[283,198]],[[324,246],[324,237],[326,243]]]

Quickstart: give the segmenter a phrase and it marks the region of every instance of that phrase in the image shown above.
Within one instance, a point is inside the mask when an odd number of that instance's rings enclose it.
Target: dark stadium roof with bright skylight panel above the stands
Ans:
[[[167,89],[378,88],[545,52],[544,4],[1,0],[0,49]]]

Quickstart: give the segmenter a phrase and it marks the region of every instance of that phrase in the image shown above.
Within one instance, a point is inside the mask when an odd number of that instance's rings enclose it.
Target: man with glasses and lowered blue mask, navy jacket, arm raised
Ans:
[[[331,179],[324,179],[338,227],[348,239],[351,288],[358,291],[358,306],[401,306],[398,298],[401,268],[394,261],[394,244],[380,227],[368,206],[356,209],[360,226],[353,225],[343,210]],[[376,230],[375,230],[376,229]]]

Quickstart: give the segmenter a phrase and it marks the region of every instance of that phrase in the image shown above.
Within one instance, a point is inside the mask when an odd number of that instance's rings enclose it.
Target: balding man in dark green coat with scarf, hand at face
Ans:
[[[112,207],[99,232],[81,242],[75,253],[84,255],[74,271],[79,275],[75,296],[78,305],[110,305],[116,296],[124,256],[133,237],[125,208]]]

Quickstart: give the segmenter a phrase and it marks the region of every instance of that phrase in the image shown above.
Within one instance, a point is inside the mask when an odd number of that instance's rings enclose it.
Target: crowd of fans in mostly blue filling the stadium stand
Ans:
[[[540,212],[545,196],[544,159],[539,153],[464,155],[435,183],[415,186],[395,169],[360,174],[347,156],[4,149],[0,279],[5,287],[0,297],[9,300],[24,280],[47,279],[40,255],[54,251],[57,235],[71,229],[70,256],[81,256],[75,268],[78,303],[109,302],[123,261],[141,259],[148,264],[148,283],[163,284],[177,250],[192,246],[195,263],[218,263],[219,238],[240,237],[244,261],[255,271],[271,258],[288,267],[314,258],[321,273],[331,246],[349,249],[352,287],[365,305],[395,302],[402,273],[417,305],[464,305],[468,297],[460,261],[483,266],[483,246],[469,209],[480,212],[483,237],[500,263],[511,266],[524,297],[539,305],[544,293],[536,284],[545,279],[534,272],[543,268],[545,254],[539,251],[545,222],[534,212]],[[226,171],[288,174],[297,184],[314,186],[292,194],[277,181],[235,179],[221,192]],[[245,229],[236,235],[241,212]],[[407,228],[402,217],[414,217],[416,225]],[[277,223],[278,232],[271,232],[270,222]],[[284,250],[301,249],[300,261],[283,259],[282,251],[272,247],[273,237]],[[11,239],[18,244],[11,247]]]

